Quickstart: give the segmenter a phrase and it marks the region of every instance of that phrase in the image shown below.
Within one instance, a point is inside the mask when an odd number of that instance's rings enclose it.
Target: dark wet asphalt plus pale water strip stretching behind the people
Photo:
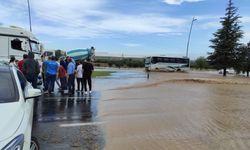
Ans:
[[[93,79],[91,94],[62,94],[55,90],[36,99],[33,131],[41,150],[101,150],[105,130],[98,118],[98,101],[104,90],[145,80],[143,71],[114,70],[112,76]]]

